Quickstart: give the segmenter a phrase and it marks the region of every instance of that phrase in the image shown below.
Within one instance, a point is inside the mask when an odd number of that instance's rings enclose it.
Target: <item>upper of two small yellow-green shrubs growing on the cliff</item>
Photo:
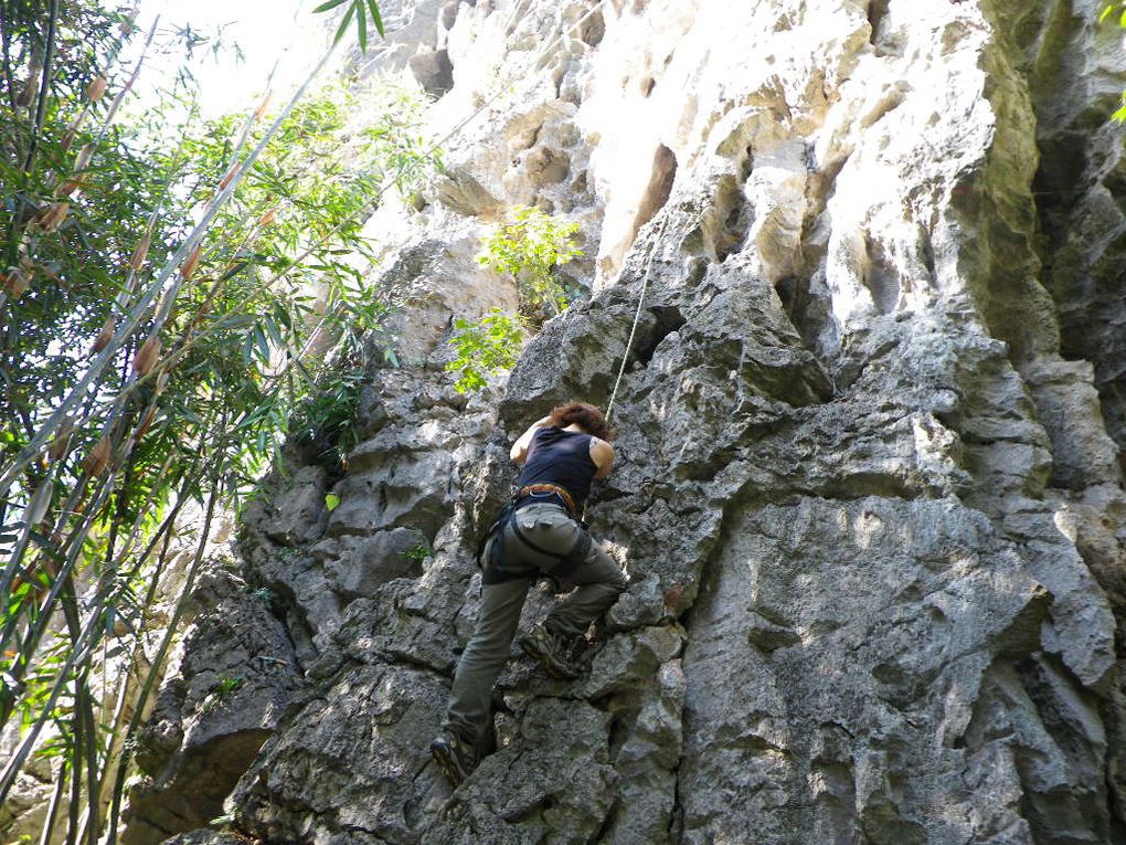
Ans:
[[[574,242],[578,231],[578,223],[564,223],[538,208],[519,205],[511,222],[498,226],[485,240],[477,260],[516,281],[526,317],[535,318],[545,308],[558,313],[568,299],[553,270],[582,255]]]

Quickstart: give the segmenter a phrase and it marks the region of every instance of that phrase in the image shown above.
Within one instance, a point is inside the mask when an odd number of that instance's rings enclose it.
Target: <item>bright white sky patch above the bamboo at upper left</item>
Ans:
[[[202,108],[207,117],[253,108],[266,89],[270,69],[280,57],[275,74],[274,105],[278,105],[304,79],[328,43],[322,15],[313,15],[319,5],[310,0],[140,0],[136,25],[141,37],[160,16],[158,41],[172,28],[190,26],[193,30],[213,35],[222,28],[224,42],[241,47],[236,59],[233,48],[216,57],[209,47],[197,51],[191,72],[203,92]],[[126,60],[132,68],[135,55]],[[145,70],[137,80],[137,98],[143,103],[159,81],[175,73],[176,62],[167,56],[150,54]]]

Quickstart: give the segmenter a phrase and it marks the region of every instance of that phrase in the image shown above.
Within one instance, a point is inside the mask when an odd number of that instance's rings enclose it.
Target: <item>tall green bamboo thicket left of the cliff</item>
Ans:
[[[177,514],[206,506],[203,560],[214,508],[236,506],[287,438],[338,463],[361,388],[348,374],[393,363],[373,341],[388,303],[364,283],[377,257],[365,219],[439,162],[420,103],[399,89],[374,108],[324,89],[275,130],[265,107],[249,123],[200,121],[181,73],[126,119],[114,107],[132,71],[116,63],[134,34],[125,12],[7,3],[3,30],[0,727],[25,738],[0,803],[28,754],[61,756],[116,776],[95,822],[113,827],[163,662],[138,632],[153,625],[168,541],[190,540]],[[160,32],[155,52],[200,44]],[[122,667],[142,697],[127,726],[96,694],[109,641],[124,660],[146,657]],[[220,678],[205,706],[240,683]],[[116,775],[111,754],[125,757]]]

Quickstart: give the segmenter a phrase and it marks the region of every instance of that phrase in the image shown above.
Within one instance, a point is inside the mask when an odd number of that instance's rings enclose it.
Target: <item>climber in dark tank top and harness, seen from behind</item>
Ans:
[[[457,664],[441,733],[430,744],[455,786],[475,768],[491,728],[493,684],[508,659],[528,588],[545,576],[575,587],[519,642],[548,675],[574,678],[587,629],[626,587],[626,576],[579,516],[591,480],[606,478],[614,465],[609,438],[598,408],[571,402],[512,444],[509,456],[522,466],[519,489],[484,544],[477,628]]]

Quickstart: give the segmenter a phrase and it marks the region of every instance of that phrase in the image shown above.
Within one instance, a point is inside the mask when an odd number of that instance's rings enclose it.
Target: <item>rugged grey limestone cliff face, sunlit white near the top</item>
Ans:
[[[368,373],[343,478],[279,470],[245,519],[257,635],[284,651],[263,632],[285,631],[294,668],[225,735],[268,737],[235,827],[1126,840],[1126,183],[1105,121],[1126,54],[1099,6],[448,3],[436,119],[485,114],[375,282],[403,292],[403,366]],[[466,401],[448,320],[512,306],[472,254],[516,203],[581,224],[566,272],[592,295]],[[426,749],[508,444],[557,402],[605,407],[623,357],[590,521],[631,586],[583,677],[513,658],[495,749],[452,791]],[[534,590],[524,623],[553,601]],[[229,659],[224,630],[195,671]]]

